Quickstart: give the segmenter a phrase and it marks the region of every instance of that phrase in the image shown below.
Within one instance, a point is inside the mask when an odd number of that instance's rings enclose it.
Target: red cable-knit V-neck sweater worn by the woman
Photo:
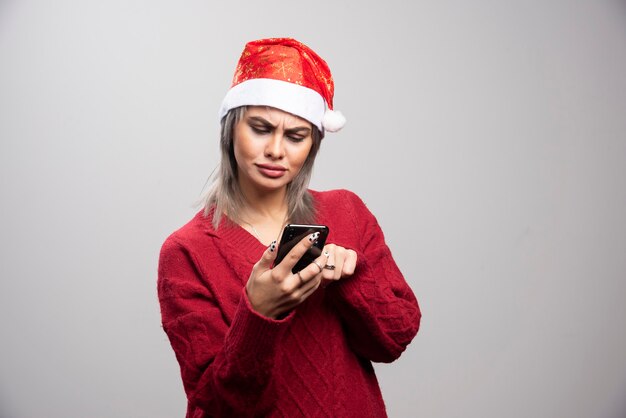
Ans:
[[[327,243],[358,254],[355,274],[280,320],[252,310],[244,285],[265,246],[198,213],[163,244],[163,328],[180,364],[188,418],[385,417],[371,362],[398,358],[420,310],[374,216],[353,193],[311,191]]]

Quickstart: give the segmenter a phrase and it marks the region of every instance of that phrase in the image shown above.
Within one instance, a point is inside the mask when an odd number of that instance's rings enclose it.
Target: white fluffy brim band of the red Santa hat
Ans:
[[[322,123],[326,111],[324,98],[315,90],[288,81],[255,78],[233,86],[222,101],[220,120],[239,106],[275,107],[308,120],[320,130],[326,128]]]

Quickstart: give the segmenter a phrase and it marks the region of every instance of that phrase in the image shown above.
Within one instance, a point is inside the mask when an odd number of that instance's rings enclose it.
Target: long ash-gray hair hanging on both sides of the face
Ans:
[[[212,184],[204,199],[204,214],[213,212],[213,227],[218,228],[223,215],[239,223],[241,211],[245,206],[245,198],[237,179],[237,161],[234,151],[235,126],[246,114],[247,106],[236,107],[228,111],[222,118],[220,133],[221,160],[212,177]],[[287,218],[292,223],[313,223],[315,220],[315,204],[308,192],[309,181],[313,174],[313,163],[322,142],[322,132],[311,125],[313,144],[300,172],[287,185]]]

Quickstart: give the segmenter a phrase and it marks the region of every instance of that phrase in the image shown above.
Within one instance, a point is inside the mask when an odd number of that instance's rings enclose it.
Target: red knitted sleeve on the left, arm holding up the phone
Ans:
[[[291,316],[278,321],[258,315],[243,290],[229,318],[219,295],[202,280],[206,262],[197,261],[173,237],[159,259],[162,323],[180,364],[189,409],[210,416],[258,414],[274,399],[276,345]]]

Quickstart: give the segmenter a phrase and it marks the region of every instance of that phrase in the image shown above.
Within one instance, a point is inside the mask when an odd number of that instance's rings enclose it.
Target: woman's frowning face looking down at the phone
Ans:
[[[311,124],[272,107],[251,106],[235,125],[242,190],[281,190],[300,172],[313,144]]]

